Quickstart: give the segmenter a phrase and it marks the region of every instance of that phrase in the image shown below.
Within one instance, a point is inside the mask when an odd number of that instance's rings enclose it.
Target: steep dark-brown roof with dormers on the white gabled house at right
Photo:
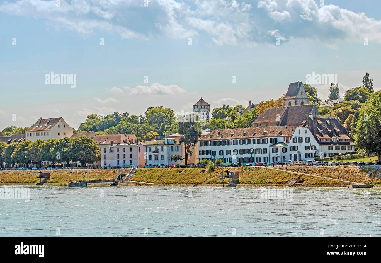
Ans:
[[[347,129],[335,118],[307,118],[304,124],[299,128],[308,128],[312,135],[315,136],[317,142],[319,139],[331,139],[336,137],[338,139],[349,139],[349,142],[319,142],[322,145],[354,145],[353,140],[349,136]]]

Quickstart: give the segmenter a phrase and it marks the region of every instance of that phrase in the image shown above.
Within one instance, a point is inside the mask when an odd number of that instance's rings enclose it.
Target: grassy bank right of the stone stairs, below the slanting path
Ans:
[[[236,168],[234,168],[236,169]],[[214,172],[202,172],[201,168],[187,168],[183,169],[138,169],[136,174],[130,179],[132,181],[146,182],[146,183],[197,183],[197,184],[210,184],[222,183],[217,175],[221,171],[227,171],[229,168],[217,168]],[[296,180],[300,175],[288,173],[286,171],[274,171],[265,169],[263,167],[239,167],[240,184],[279,184],[284,185],[288,181]],[[317,178],[313,176],[303,175],[300,180],[305,180],[304,184],[321,184],[321,185],[338,185],[343,184],[337,181]]]

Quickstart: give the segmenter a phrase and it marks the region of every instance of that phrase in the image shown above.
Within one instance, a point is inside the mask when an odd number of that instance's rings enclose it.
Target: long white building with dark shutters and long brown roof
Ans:
[[[199,161],[272,163],[287,160],[287,146],[296,127],[252,127],[215,130],[198,142]]]

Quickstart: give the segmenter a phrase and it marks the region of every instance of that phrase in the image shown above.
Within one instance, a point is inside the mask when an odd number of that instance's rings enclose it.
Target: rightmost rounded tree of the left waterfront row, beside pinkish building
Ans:
[[[98,145],[89,137],[80,136],[72,139],[72,160],[80,162],[82,165],[86,163],[94,163],[101,157],[101,150]]]

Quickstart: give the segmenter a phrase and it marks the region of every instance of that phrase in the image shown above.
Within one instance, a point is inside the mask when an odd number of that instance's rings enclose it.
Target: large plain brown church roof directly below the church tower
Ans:
[[[263,126],[266,123],[277,124],[279,126],[299,126],[313,109],[314,104],[266,108],[253,122],[253,126],[257,126],[258,124],[262,124]]]

